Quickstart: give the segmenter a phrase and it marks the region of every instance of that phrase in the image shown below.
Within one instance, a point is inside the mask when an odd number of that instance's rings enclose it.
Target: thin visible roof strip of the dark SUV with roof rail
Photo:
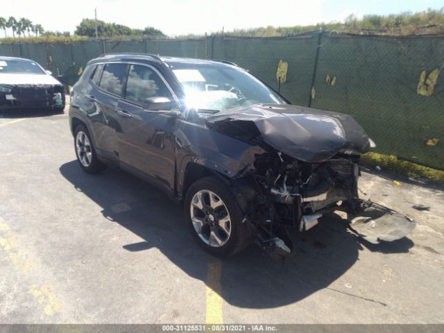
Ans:
[[[99,58],[91,60],[90,63],[94,62],[102,62],[105,61],[155,61],[155,62],[163,62],[167,64],[169,67],[180,68],[180,67],[237,67],[236,64],[228,61],[219,61],[219,60],[205,60],[205,59],[196,59],[196,58],[182,58],[182,57],[167,57],[167,56],[159,56],[150,53],[105,53]]]

